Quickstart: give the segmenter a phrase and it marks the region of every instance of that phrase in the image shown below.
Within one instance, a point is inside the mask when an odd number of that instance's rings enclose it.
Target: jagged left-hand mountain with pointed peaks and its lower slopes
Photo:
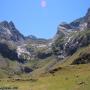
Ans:
[[[35,63],[29,65],[40,57],[39,49],[46,48],[48,42],[33,35],[24,36],[12,21],[0,22],[0,72],[4,73],[4,69],[12,76],[33,71]]]

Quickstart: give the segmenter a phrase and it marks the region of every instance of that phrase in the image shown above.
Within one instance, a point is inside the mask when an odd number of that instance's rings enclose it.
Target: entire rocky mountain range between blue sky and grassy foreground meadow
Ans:
[[[79,53],[90,45],[90,9],[86,15],[71,23],[62,22],[52,39],[24,36],[12,21],[0,22],[0,69],[10,75],[30,73],[32,76],[49,72],[54,65],[90,63],[89,52]],[[85,57],[84,57],[85,56]],[[67,58],[70,58],[68,60]],[[73,58],[73,59],[72,59]],[[14,74],[13,74],[14,72]]]

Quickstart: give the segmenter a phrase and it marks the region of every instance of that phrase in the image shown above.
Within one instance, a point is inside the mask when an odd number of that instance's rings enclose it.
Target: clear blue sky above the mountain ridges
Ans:
[[[25,36],[51,38],[58,24],[84,16],[89,7],[90,0],[0,0],[0,21],[12,20]]]

